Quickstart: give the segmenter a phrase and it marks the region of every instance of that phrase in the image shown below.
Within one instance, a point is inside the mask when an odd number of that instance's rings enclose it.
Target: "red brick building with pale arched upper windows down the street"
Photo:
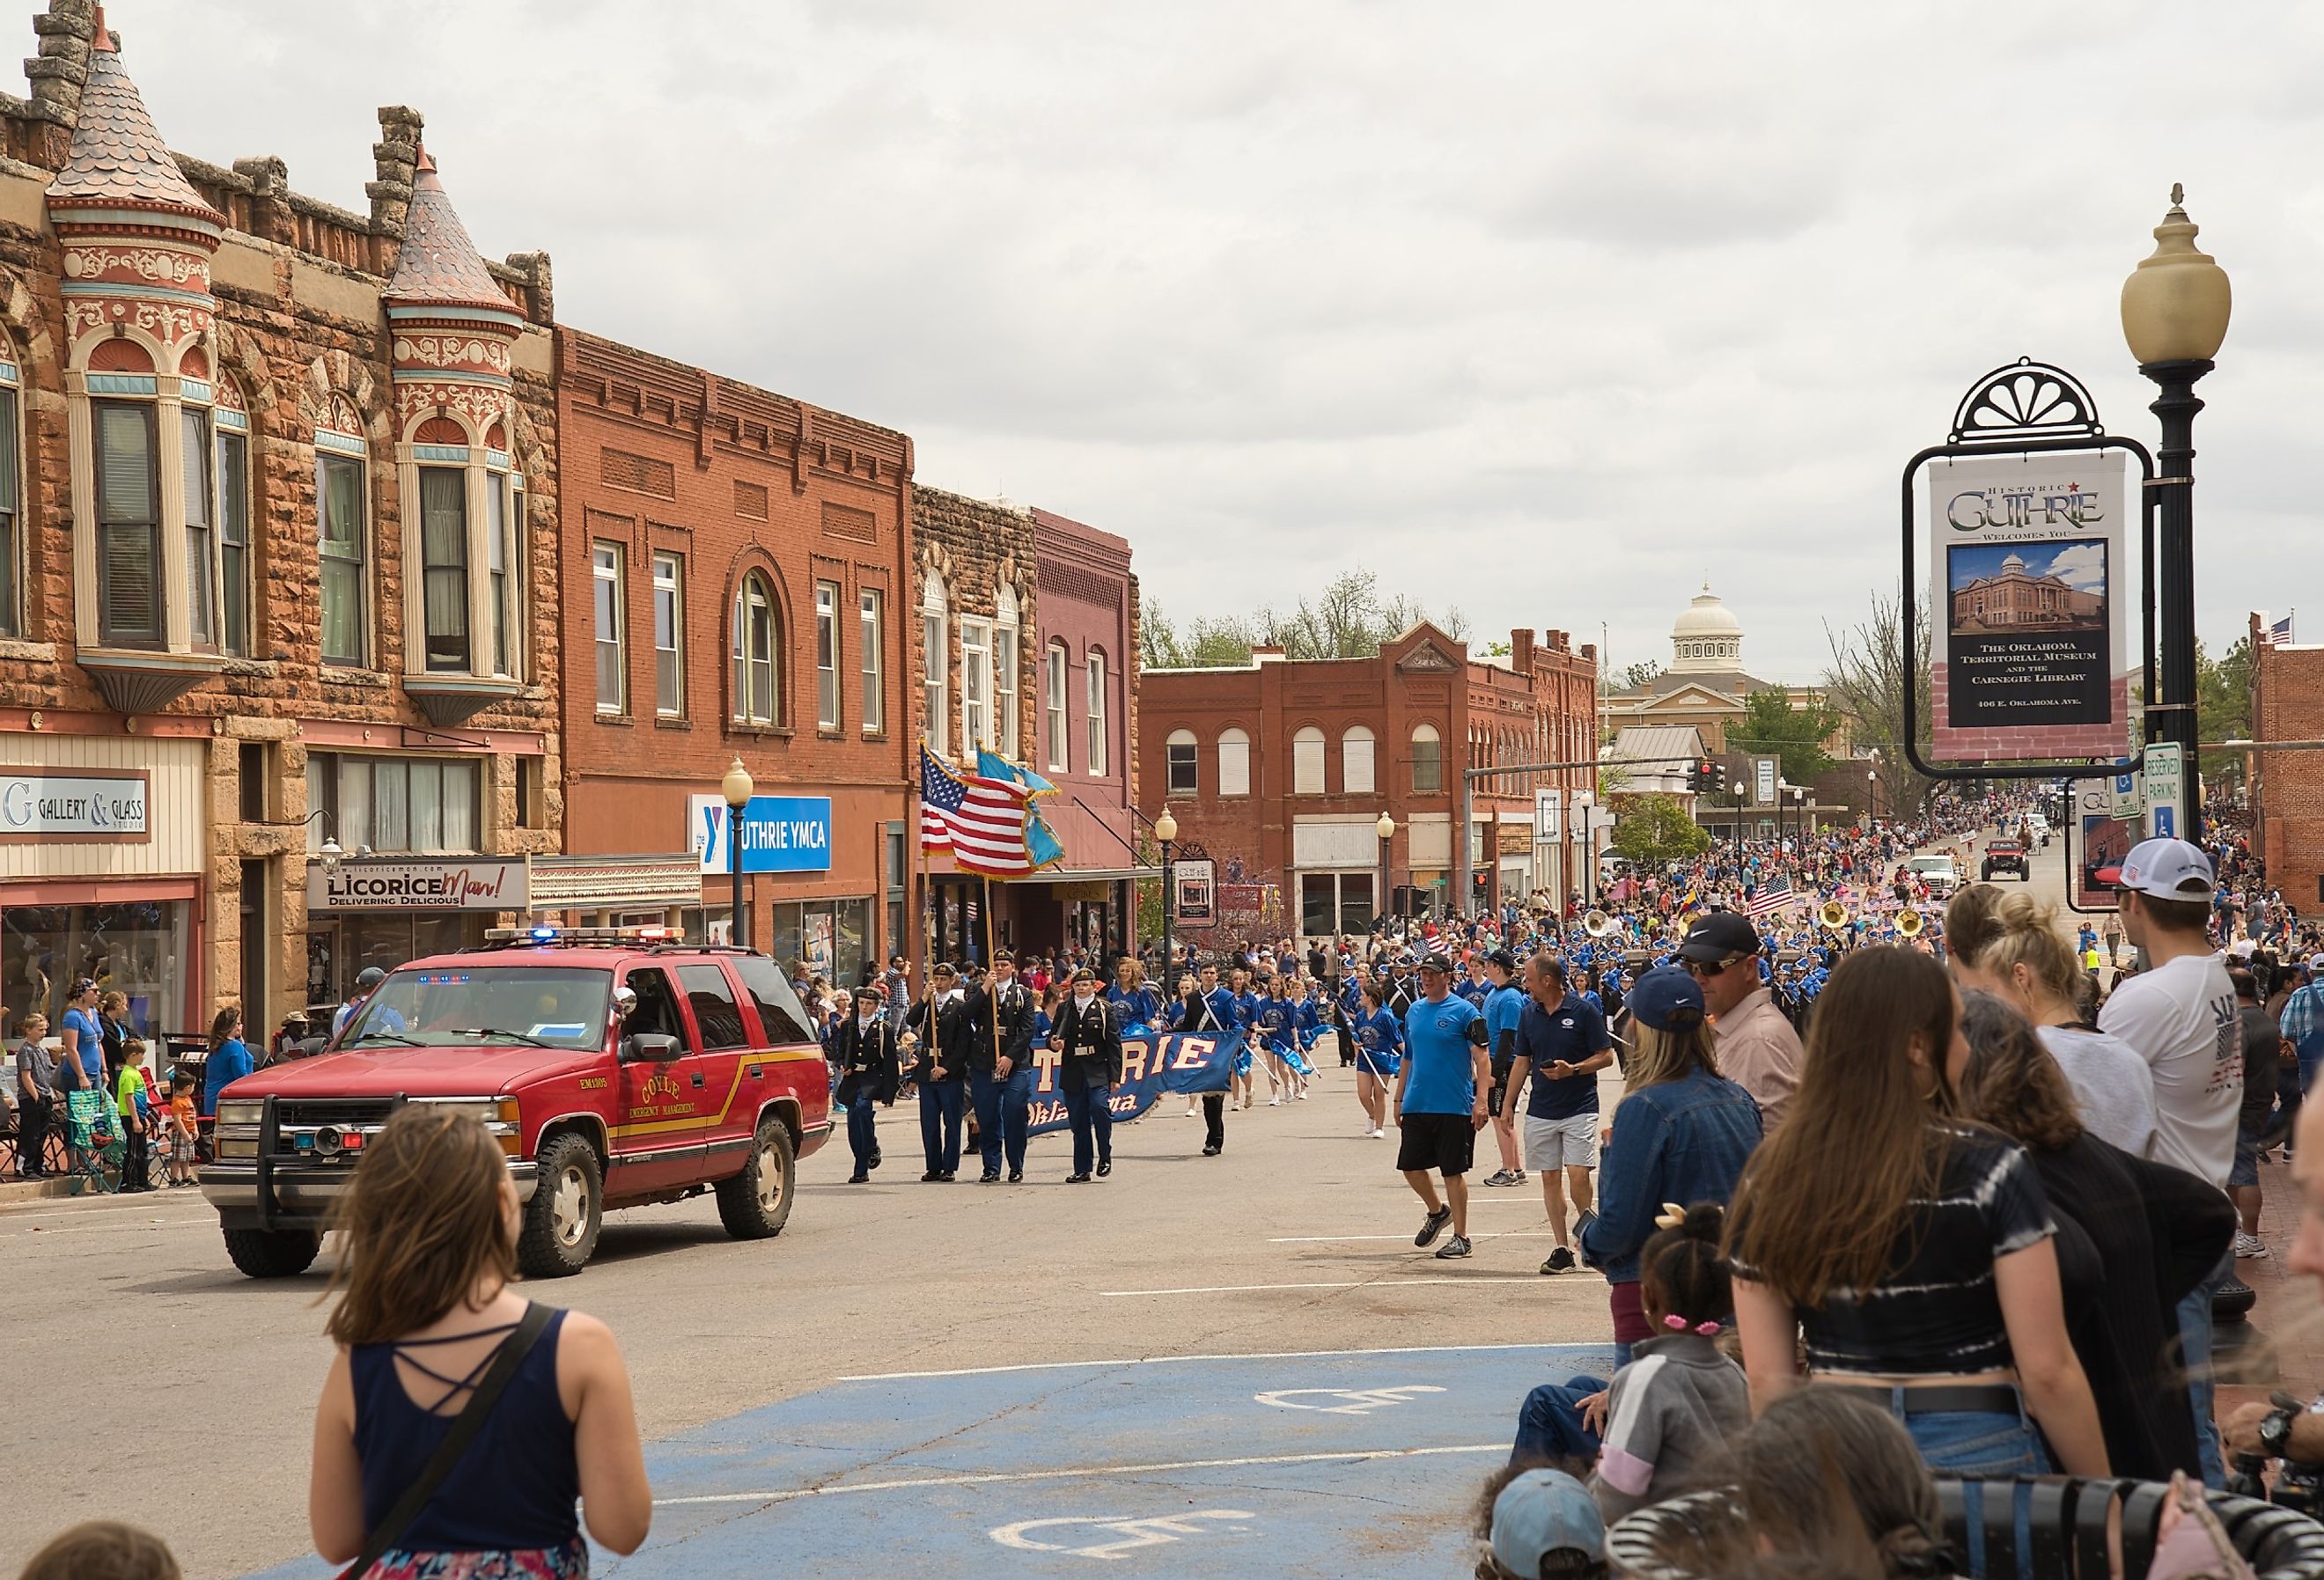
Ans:
[[[1434,625],[1378,658],[1292,662],[1260,651],[1241,669],[1148,669],[1139,809],[1167,804],[1181,841],[1218,862],[1222,925],[1241,932],[1360,932],[1390,888],[1455,904],[1455,825],[1466,769],[1597,757],[1597,646],[1511,632],[1506,660],[1476,660]],[[1536,848],[1534,790],[1590,788],[1590,769],[1478,785],[1469,827],[1478,895],[1559,888],[1557,846]],[[1387,895],[1385,899],[1394,899]]]

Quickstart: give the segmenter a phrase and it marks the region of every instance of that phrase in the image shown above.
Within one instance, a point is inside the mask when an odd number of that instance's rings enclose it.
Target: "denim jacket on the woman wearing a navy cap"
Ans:
[[[1664,1201],[1727,1204],[1759,1146],[1759,1104],[1734,1080],[1690,1071],[1641,1087],[1615,1108],[1599,1178],[1599,1215],[1583,1229],[1583,1262],[1606,1283],[1638,1280],[1638,1250]]]

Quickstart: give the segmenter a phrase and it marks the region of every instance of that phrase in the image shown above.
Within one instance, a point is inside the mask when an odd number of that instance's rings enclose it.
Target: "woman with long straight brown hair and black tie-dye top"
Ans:
[[[1820,994],[1792,1118],[1727,1224],[1752,1403],[1799,1387],[1806,1334],[1808,1369],[1936,1471],[2106,1475],[2040,1176],[1954,1118],[1959,1018],[1945,967],[1901,948],[1848,955]]]

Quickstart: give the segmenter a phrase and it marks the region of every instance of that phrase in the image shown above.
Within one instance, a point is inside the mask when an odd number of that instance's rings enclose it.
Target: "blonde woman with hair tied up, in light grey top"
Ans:
[[[2057,929],[2057,906],[2033,895],[2003,895],[1975,957],[1957,960],[1964,988],[2001,994],[2033,1022],[2073,1087],[2082,1125],[2131,1157],[2154,1141],[2154,1076],[2147,1062],[2082,1018],[2082,967]]]

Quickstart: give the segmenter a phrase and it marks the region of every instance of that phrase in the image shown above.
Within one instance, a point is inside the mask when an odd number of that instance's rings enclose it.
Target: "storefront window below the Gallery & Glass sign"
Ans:
[[[53,1036],[72,978],[93,976],[100,990],[128,997],[128,1025],[146,1041],[207,1032],[209,1018],[186,1004],[184,962],[193,953],[186,913],[184,899],[0,911],[0,1004],[9,1029],[37,1008]]]

